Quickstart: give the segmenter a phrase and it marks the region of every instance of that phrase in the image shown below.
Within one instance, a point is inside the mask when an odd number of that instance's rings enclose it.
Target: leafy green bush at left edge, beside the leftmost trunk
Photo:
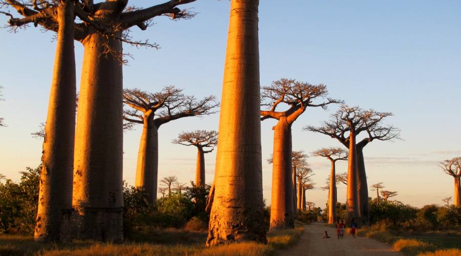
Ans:
[[[32,234],[38,205],[41,165],[27,167],[19,184],[7,179],[0,183],[0,233]]]

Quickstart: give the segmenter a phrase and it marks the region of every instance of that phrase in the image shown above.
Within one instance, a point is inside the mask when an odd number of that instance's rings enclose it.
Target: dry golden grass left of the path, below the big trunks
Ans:
[[[183,229],[138,230],[132,240],[123,244],[36,243],[32,237],[3,235],[0,236],[0,255],[275,255],[277,250],[295,244],[302,232],[302,227],[272,231],[267,234],[267,244],[242,242],[214,247],[204,246],[206,232]]]

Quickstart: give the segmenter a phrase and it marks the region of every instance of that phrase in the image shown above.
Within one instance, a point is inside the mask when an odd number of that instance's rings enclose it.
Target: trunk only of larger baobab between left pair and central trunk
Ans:
[[[157,199],[158,127],[151,115],[152,113],[144,114],[135,186],[142,187],[149,202],[154,202]]]

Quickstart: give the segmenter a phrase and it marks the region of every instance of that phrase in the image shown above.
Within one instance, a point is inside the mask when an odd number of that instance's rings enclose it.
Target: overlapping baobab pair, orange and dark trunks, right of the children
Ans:
[[[382,124],[383,119],[389,116],[392,116],[392,113],[342,105],[336,113],[331,115],[331,120],[324,121],[322,126],[308,125],[303,128],[305,131],[335,138],[349,149],[347,221],[352,218],[361,218],[365,225],[369,224],[368,185],[363,148],[373,140],[400,139],[399,129]],[[357,142],[357,136],[361,132],[366,132],[368,136]]]

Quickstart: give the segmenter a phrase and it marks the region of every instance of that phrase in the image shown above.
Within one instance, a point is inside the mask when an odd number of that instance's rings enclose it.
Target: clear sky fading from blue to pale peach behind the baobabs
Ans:
[[[162,1],[132,0],[149,7]],[[287,4],[289,3],[289,5]],[[229,1],[198,0],[188,4],[197,16],[173,21],[156,18],[134,38],[157,42],[159,50],[124,45],[133,55],[123,67],[124,88],[156,92],[175,85],[198,98],[221,97]],[[460,1],[301,1],[261,0],[259,8],[260,77],[267,86],[280,78],[327,85],[329,96],[349,105],[394,114],[386,124],[399,127],[402,140],[373,141],[364,149],[368,184],[383,182],[397,191],[394,199],[421,207],[443,204],[453,196],[453,178],[438,162],[461,156],[461,2]],[[0,24],[7,23],[0,16]],[[0,29],[0,174],[18,181],[26,166],[40,163],[41,140],[30,133],[46,120],[55,42],[53,33],[29,27],[17,33]],[[77,87],[83,48],[75,42]],[[319,125],[328,111],[309,108],[292,125],[293,150],[311,153],[342,146],[325,135],[302,131]],[[217,130],[218,114],[188,117],[159,129],[159,179],[195,177],[196,148],[172,144],[181,131]],[[262,122],[263,195],[270,204],[274,120]],[[134,184],[140,127],[123,136],[123,178]],[[214,177],[216,151],[205,155],[206,180]],[[307,201],[325,207],[322,190],[329,161],[310,157],[316,188]],[[337,164],[346,172],[346,163]],[[369,190],[370,196],[375,192]],[[338,200],[346,190],[339,185]]]

